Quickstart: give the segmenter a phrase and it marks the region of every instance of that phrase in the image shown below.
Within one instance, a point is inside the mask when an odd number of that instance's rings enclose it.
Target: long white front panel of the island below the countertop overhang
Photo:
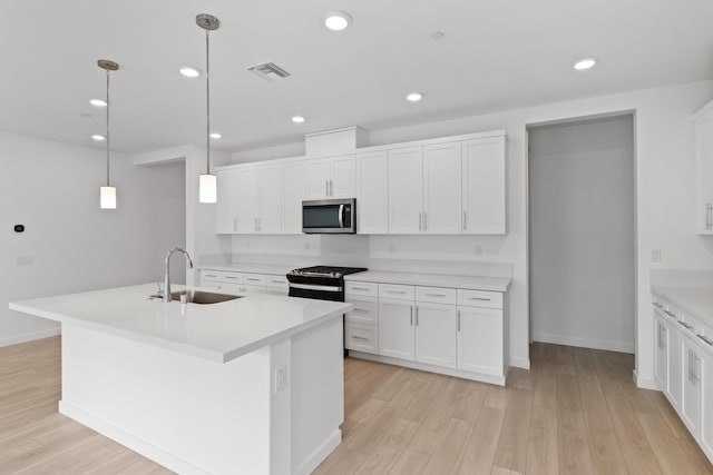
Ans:
[[[270,473],[271,354],[226,364],[62,325],[60,412],[182,474]]]

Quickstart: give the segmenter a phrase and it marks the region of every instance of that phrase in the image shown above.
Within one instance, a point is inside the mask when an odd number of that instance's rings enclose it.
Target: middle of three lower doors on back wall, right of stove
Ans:
[[[456,367],[456,306],[416,305],[416,360]]]

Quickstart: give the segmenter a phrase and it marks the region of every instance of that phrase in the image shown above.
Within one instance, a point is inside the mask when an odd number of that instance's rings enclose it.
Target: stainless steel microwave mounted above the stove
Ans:
[[[302,232],[356,232],[356,199],[314,199],[302,201]]]

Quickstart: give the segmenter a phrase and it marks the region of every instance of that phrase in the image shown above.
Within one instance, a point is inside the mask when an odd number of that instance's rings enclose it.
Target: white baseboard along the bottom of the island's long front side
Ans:
[[[145,456],[146,458],[150,458],[157,464],[160,464],[176,473],[189,475],[209,475],[209,472],[196,467],[195,465],[184,461],[183,458],[179,458],[176,455],[170,454],[144,441],[143,438],[135,436],[134,434],[117,428],[106,420],[95,417],[91,414],[88,414],[64,400],[59,402],[59,412],[60,414],[64,414],[67,417],[77,420],[79,424],[95,429],[99,434],[118,442],[125,447],[128,447],[131,451]]]

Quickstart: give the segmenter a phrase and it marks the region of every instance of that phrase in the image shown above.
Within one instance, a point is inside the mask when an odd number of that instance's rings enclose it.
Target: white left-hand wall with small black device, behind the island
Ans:
[[[100,148],[0,132],[0,346],[58,331],[9,301],[159,280],[164,250],[185,241],[180,167],[135,167],[113,154],[118,205],[101,210]],[[18,256],[33,264],[17,266]]]

